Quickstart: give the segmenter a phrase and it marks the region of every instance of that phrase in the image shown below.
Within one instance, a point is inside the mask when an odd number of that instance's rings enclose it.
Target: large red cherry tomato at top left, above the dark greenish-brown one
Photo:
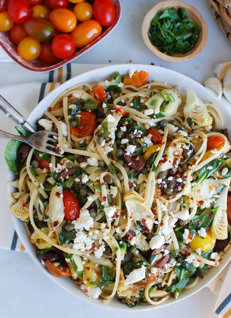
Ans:
[[[7,11],[14,23],[20,23],[28,19],[31,15],[31,7],[26,0],[9,0]]]

